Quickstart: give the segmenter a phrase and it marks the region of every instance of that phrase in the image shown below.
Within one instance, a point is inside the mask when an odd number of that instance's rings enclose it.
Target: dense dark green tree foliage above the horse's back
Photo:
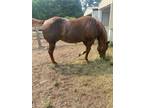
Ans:
[[[32,0],[32,17],[48,19],[53,16],[82,16],[80,0]]]

